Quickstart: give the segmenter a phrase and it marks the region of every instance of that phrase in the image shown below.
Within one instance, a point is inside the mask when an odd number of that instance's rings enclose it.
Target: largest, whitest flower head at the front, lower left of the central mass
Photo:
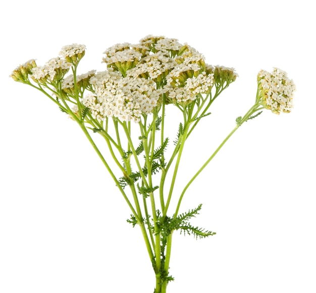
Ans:
[[[111,70],[96,74],[90,82],[94,84],[96,96],[86,95],[82,103],[99,120],[116,117],[138,122],[142,113],[153,111],[162,94],[150,79],[123,77]]]

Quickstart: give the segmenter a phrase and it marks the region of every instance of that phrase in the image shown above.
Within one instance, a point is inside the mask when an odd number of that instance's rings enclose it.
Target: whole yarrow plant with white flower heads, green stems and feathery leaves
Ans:
[[[85,50],[80,44],[64,46],[61,57],[43,66],[29,60],[11,77],[43,92],[82,129],[131,210],[127,222],[140,227],[156,277],[154,293],[166,292],[174,279],[169,272],[173,232],[196,238],[215,234],[190,224],[201,205],[180,213],[188,187],[244,122],[263,109],[289,113],[295,85],[278,68],[261,70],[253,106],[237,117],[232,132],[178,192],[174,186],[185,142],[237,73],[233,68],[206,64],[195,48],[177,39],[149,35],[137,44],[108,48],[103,58],[106,70],[78,75]],[[173,121],[173,144],[166,137],[166,127],[171,128],[166,125],[168,107],[176,107],[182,117]],[[99,149],[93,135],[101,135],[108,153]],[[177,203],[172,213],[171,199]]]

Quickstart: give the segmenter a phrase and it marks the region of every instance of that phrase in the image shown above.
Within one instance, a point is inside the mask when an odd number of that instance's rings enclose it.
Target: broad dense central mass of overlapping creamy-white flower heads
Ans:
[[[95,93],[83,99],[100,120],[116,117],[138,122],[142,114],[160,105],[163,93],[168,103],[184,105],[209,93],[214,84],[213,71],[205,71],[211,67],[204,57],[177,39],[147,36],[136,45],[116,44],[104,54],[108,71],[90,78]]]

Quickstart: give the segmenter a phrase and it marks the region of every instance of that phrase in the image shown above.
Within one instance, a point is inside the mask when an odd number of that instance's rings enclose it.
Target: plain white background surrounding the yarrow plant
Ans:
[[[217,235],[195,240],[175,232],[175,282],[168,291],[316,292],[310,3],[6,2],[0,18],[0,292],[153,291],[140,231],[126,223],[130,212],[83,133],[43,94],[9,78],[19,64],[32,58],[44,64],[74,42],[87,46],[80,73],[104,70],[104,50],[148,34],[187,42],[207,63],[239,73],[188,143],[179,192],[252,106],[261,68],[279,67],[297,86],[291,114],[265,111],[245,123],[189,188],[182,212],[202,203],[194,224]]]

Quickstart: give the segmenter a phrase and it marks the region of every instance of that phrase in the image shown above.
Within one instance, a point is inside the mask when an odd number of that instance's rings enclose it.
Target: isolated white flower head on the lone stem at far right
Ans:
[[[271,73],[260,70],[257,79],[262,105],[275,114],[291,112],[295,84],[285,71],[278,68],[274,68]]]

